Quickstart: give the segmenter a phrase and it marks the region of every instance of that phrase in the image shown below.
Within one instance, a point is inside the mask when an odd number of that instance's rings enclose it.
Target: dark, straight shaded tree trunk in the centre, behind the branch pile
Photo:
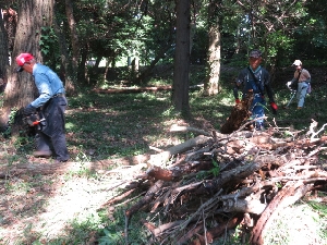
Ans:
[[[173,71],[172,103],[174,109],[187,115],[190,113],[190,0],[177,1],[177,40]]]

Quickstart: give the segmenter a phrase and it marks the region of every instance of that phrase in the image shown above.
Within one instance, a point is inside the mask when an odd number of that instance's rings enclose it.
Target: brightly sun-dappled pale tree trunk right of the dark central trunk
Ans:
[[[208,75],[204,83],[204,94],[211,96],[219,91],[220,75],[220,30],[219,10],[217,7],[221,0],[210,0],[208,5],[209,46],[208,46]]]

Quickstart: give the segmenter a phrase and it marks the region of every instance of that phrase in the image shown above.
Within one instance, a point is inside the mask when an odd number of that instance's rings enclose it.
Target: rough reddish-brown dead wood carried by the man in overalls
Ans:
[[[225,124],[220,127],[222,134],[230,134],[240,128],[242,123],[251,115],[250,107],[253,101],[253,93],[247,93],[246,97],[238,105],[235,105],[226,120]]]

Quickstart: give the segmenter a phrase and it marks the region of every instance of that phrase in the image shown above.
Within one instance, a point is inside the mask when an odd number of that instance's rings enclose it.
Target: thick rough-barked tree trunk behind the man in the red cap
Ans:
[[[32,53],[38,62],[43,62],[39,47],[40,30],[52,24],[53,0],[21,1],[19,24],[12,53],[12,63],[8,71],[8,84],[4,90],[4,102],[1,113],[1,125],[5,126],[13,108],[26,107],[37,96],[33,76],[26,72],[16,73],[15,58],[21,52]],[[12,125],[12,134],[19,133],[20,122]]]

